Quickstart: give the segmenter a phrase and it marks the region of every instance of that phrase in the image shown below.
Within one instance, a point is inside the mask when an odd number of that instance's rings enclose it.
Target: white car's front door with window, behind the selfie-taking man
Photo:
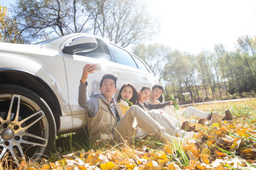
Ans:
[[[72,111],[73,129],[86,125],[84,108],[78,104],[78,87],[85,64],[100,64],[101,69],[88,75],[88,95],[99,93],[99,82],[105,73],[117,76],[117,83],[123,84],[123,76],[112,61],[108,46],[104,40],[96,39],[98,46],[90,52],[76,52],[75,55],[62,53],[66,65],[66,77],[69,90],[69,106]]]

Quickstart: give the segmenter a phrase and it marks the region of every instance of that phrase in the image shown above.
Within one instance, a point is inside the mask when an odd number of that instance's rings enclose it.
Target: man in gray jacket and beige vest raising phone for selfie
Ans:
[[[117,91],[117,77],[105,74],[100,81],[101,94],[87,96],[87,77],[94,73],[95,64],[86,64],[81,76],[78,102],[88,113],[87,129],[90,142],[97,140],[122,141],[132,139],[138,127],[150,136],[163,142],[170,141],[176,134],[190,138],[194,133],[187,133],[175,127],[161,114],[149,115],[139,106],[132,106],[122,116],[119,106],[114,102],[113,94]],[[173,135],[170,136],[166,131]]]

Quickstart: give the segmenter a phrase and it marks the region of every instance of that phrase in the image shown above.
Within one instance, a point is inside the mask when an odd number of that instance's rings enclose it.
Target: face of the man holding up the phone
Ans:
[[[117,91],[115,88],[114,80],[113,79],[104,79],[102,82],[102,87],[99,88],[102,95],[108,100],[111,99],[113,94]]]

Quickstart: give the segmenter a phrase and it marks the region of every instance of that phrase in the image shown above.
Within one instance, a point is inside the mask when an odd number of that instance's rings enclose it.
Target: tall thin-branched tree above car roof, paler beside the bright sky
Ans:
[[[93,16],[93,34],[120,46],[151,39],[158,32],[159,23],[149,16],[145,1],[90,0],[86,4]]]

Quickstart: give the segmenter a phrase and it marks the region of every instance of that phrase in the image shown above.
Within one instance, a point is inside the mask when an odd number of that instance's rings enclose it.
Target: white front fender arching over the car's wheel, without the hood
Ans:
[[[6,53],[5,53],[6,54]],[[48,86],[48,89],[53,91],[53,94],[59,100],[59,106],[62,110],[62,115],[71,115],[71,110],[69,108],[69,96],[67,90],[66,82],[66,71],[63,63],[63,58],[61,56],[24,56],[24,55],[10,55],[11,53],[6,54],[5,56],[0,55],[0,69],[1,72],[6,71],[18,71],[26,73],[36,77],[36,79],[41,79],[41,82],[44,82]],[[52,65],[44,68],[42,62],[37,62],[38,57],[44,57],[44,61],[50,63],[53,62],[53,65],[56,65],[58,70]],[[15,61],[15,62],[14,62]],[[46,64],[45,64],[46,65]],[[62,71],[61,71],[62,70]],[[0,76],[0,79],[1,76]],[[20,80],[22,81],[22,79]]]

